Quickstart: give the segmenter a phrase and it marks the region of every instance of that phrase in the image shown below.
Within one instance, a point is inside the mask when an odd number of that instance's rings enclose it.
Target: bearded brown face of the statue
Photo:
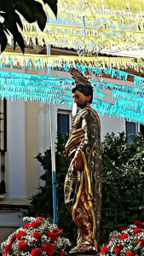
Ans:
[[[89,99],[91,96],[84,96],[82,92],[79,90],[76,90],[74,93],[72,93],[73,101],[77,103],[78,107],[85,108],[89,106]]]

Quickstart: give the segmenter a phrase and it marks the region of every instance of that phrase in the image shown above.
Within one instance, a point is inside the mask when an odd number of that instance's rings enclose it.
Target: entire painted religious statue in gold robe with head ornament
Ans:
[[[101,222],[101,125],[90,103],[93,88],[77,69],[71,68],[72,89],[78,112],[66,143],[65,203],[78,227],[77,247],[71,253],[97,253]]]

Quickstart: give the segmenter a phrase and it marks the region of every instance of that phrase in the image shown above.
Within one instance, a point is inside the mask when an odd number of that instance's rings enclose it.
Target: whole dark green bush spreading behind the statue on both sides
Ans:
[[[55,147],[58,222],[64,236],[75,243],[77,231],[64,204],[63,193],[68,168],[64,150],[66,139],[59,134]],[[26,215],[53,217],[50,149],[37,154],[37,160],[45,170],[41,177],[45,186],[39,187],[38,193],[32,196]],[[107,134],[102,143],[102,166],[101,244],[118,226],[135,219],[144,221],[144,137],[132,136],[132,143],[128,144],[124,132],[118,137],[114,133]]]

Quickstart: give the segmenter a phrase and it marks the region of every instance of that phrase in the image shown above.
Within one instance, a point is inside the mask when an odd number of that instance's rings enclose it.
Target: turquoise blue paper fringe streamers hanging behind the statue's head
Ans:
[[[97,72],[101,73],[97,67]],[[112,70],[111,70],[112,71]],[[107,73],[109,70],[107,69]],[[113,71],[113,75],[115,73]],[[123,72],[118,72],[119,78],[127,79]],[[10,73],[0,71],[0,97],[10,101],[43,102],[72,106],[73,79],[51,77],[27,73]],[[135,79],[135,86],[106,83],[103,79],[91,81],[94,87],[94,102],[92,107],[100,115],[107,113],[110,117],[128,119],[144,124],[144,79]]]

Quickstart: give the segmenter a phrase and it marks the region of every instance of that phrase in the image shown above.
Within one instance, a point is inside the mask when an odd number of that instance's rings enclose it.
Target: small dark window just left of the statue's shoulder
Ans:
[[[71,112],[59,110],[57,113],[57,132],[69,133],[71,124]]]

